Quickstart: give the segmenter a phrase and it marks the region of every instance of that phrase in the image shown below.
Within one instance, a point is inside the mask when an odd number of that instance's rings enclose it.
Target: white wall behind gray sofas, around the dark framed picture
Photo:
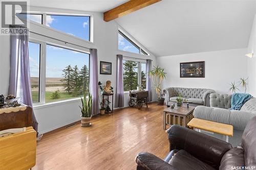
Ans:
[[[246,48],[159,57],[158,64],[167,72],[166,87],[209,88],[230,93],[229,83],[247,78]],[[205,78],[180,78],[180,62],[205,61]]]

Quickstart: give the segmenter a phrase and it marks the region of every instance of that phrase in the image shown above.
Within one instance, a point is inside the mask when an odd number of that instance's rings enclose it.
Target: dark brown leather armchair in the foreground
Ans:
[[[256,169],[256,116],[247,124],[242,143],[230,143],[178,125],[168,130],[170,152],[164,160],[151,153],[139,153],[137,170],[142,169]]]

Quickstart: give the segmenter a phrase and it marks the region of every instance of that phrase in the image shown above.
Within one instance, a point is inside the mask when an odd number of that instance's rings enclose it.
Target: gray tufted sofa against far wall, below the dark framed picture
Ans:
[[[165,94],[166,102],[176,100],[177,96],[181,94],[184,99],[193,102],[193,104],[210,106],[209,95],[210,93],[215,93],[215,91],[203,88],[169,87],[163,89],[163,93]]]

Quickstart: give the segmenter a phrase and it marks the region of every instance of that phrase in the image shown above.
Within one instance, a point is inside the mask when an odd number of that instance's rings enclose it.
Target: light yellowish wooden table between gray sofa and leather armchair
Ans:
[[[193,118],[187,124],[189,127],[193,127],[194,130],[201,132],[201,130],[219,133],[224,135],[225,141],[228,142],[228,136],[233,136],[233,126],[227,124],[221,124],[217,122],[211,122],[200,118]]]

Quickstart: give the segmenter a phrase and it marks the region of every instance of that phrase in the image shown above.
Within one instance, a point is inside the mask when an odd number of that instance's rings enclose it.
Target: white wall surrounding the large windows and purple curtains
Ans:
[[[115,21],[105,22],[103,21],[103,14],[99,12],[85,12],[85,11],[73,11],[73,10],[61,10],[53,8],[40,8],[40,7],[31,7],[31,11],[37,12],[49,12],[49,13],[70,13],[70,14],[89,14],[93,15],[94,21],[94,42],[93,43],[84,43],[86,47],[94,47],[98,50],[98,66],[100,61],[112,62],[112,75],[98,75],[98,80],[102,83],[105,83],[106,80],[112,82],[112,86],[116,87],[116,55],[123,54],[129,57],[136,57],[141,59],[152,59],[153,65],[156,63],[156,58],[153,54],[150,53],[150,56],[143,56],[139,54],[133,54],[128,52],[121,52],[117,50],[117,29],[118,25]],[[31,27],[35,29],[36,27]],[[42,29],[44,30],[44,29]],[[39,30],[33,30],[39,31]],[[40,30],[41,31],[41,30]],[[41,33],[41,32],[40,32]],[[53,35],[56,36],[56,35]],[[1,72],[5,74],[1,75],[0,83],[0,93],[7,94],[9,86],[9,70],[10,70],[10,39],[8,36],[0,37],[1,41]],[[141,44],[140,44],[141,45]],[[142,46],[142,45],[141,45]],[[143,46],[142,46],[143,47]],[[147,50],[147,49],[145,49]],[[147,52],[149,52],[147,50]],[[98,68],[99,71],[99,68]],[[125,93],[124,95],[124,104],[128,106],[129,94]],[[115,99],[115,98],[114,98]],[[153,100],[156,99],[156,95],[153,92]],[[114,100],[115,102],[115,100]],[[72,122],[75,122],[80,119],[80,110],[78,105],[80,100],[75,100],[72,102],[58,103],[54,105],[45,105],[34,107],[34,113],[39,123],[38,131],[39,133],[49,132],[56,128],[65,126]],[[115,114],[115,113],[114,113]]]

